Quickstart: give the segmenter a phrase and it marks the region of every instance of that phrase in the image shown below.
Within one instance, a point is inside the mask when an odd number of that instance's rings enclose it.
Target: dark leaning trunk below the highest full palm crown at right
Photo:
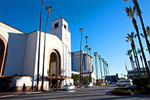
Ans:
[[[147,75],[148,75],[148,78],[149,78],[149,84],[150,84],[150,73],[149,73],[149,68],[148,68],[147,60],[146,60],[146,57],[145,57],[145,54],[144,54],[144,51],[143,51],[143,46],[142,46],[142,42],[141,42],[141,39],[140,39],[138,26],[137,26],[136,20],[135,20],[134,18],[132,18],[132,22],[133,22],[133,24],[134,24],[134,28],[135,28],[136,33],[137,33],[137,36],[138,36],[138,40],[139,40],[140,48],[141,48],[141,51],[142,51],[142,56],[143,56],[143,59],[144,59],[145,67],[146,67],[146,69],[147,69]]]

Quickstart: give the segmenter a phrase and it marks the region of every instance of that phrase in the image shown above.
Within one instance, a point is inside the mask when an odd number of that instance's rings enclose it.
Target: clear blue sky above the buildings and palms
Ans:
[[[0,0],[0,21],[5,22],[25,33],[39,30],[40,8],[42,0]],[[150,26],[150,0],[138,0],[142,11],[145,26]],[[85,49],[85,36],[88,36],[88,45],[92,48],[92,55],[98,52],[109,64],[111,75],[116,73],[126,74],[127,68],[131,69],[127,50],[131,49],[125,36],[135,32],[132,20],[127,18],[125,7],[133,6],[132,0],[124,3],[123,0],[44,0],[42,13],[42,31],[44,31],[47,11],[45,7],[52,6],[47,32],[51,27],[51,21],[63,17],[69,23],[71,32],[71,51],[80,50],[81,34],[83,27],[82,50]],[[139,17],[135,17],[142,33]],[[146,49],[145,40],[142,43]],[[135,38],[136,48],[139,47],[138,39]],[[145,51],[147,60],[149,54]],[[95,70],[95,59],[93,59]],[[99,61],[98,61],[98,72]],[[100,77],[100,74],[99,74]]]

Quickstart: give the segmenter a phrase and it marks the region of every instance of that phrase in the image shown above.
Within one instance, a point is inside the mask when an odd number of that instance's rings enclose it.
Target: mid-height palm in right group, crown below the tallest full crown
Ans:
[[[131,47],[132,47],[133,55],[134,55],[134,58],[135,58],[135,64],[136,64],[139,76],[141,78],[142,74],[141,74],[140,64],[139,64],[139,60],[138,60],[138,57],[137,57],[137,52],[136,52],[135,44],[134,44],[134,40],[133,40],[135,38],[134,32],[131,32],[131,34],[127,33],[126,38],[127,38],[126,42],[129,42],[129,41],[131,42]]]

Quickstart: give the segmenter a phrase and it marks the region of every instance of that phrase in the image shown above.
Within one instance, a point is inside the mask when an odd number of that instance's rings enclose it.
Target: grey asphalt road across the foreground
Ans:
[[[118,96],[110,95],[115,85],[77,88],[70,91],[49,91],[17,95],[0,99],[7,100],[150,100],[150,95]]]

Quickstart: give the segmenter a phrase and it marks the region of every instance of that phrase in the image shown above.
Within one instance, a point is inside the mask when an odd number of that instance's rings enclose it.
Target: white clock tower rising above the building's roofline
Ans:
[[[52,21],[49,33],[56,35],[71,51],[71,33],[68,30],[68,23],[63,18]]]

